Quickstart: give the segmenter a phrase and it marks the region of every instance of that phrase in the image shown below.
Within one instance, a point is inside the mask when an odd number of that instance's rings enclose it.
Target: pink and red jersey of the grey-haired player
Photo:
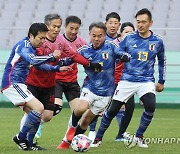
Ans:
[[[37,55],[48,55],[50,53],[53,53],[54,50],[61,50],[62,51],[62,42],[60,39],[60,35],[56,38],[54,42],[46,39],[43,45],[37,49]],[[62,57],[70,57],[74,61],[79,62],[83,65],[88,65],[89,61],[85,58],[82,58],[80,54],[78,54],[75,51],[69,50],[69,47],[63,48],[63,51],[61,53]],[[51,65],[56,65],[57,62],[49,62],[48,64]],[[71,72],[71,71],[70,71]],[[51,88],[55,86],[55,76],[56,72],[55,71],[43,71],[43,70],[38,70],[35,67],[32,67],[29,71],[29,75],[26,79],[26,83],[40,87],[40,88]]]

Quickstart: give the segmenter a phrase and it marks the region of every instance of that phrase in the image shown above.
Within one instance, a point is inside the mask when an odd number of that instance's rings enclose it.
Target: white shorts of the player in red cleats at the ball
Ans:
[[[89,102],[89,109],[94,115],[102,115],[110,103],[111,96],[98,96],[92,93],[89,89],[83,88],[80,99]]]

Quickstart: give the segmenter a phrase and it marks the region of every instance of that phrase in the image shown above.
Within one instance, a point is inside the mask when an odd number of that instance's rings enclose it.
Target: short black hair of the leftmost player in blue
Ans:
[[[44,23],[33,23],[28,31],[28,37],[32,34],[34,37],[38,35],[38,32],[47,32],[48,28]]]

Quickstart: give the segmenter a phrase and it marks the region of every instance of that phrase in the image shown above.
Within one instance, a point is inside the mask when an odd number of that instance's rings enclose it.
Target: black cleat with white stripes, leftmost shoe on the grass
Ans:
[[[16,135],[12,140],[19,146],[20,149],[25,151],[30,150],[29,143],[26,139],[20,140],[18,135]]]

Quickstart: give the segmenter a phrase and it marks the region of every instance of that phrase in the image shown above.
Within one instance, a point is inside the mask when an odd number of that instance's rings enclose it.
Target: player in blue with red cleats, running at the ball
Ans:
[[[104,23],[92,23],[89,26],[89,36],[91,43],[80,48],[79,52],[92,62],[99,62],[102,70],[85,68],[87,77],[83,84],[80,101],[72,113],[71,127],[66,133],[68,143],[72,141],[74,135],[83,134],[92,119],[102,114],[108,106],[114,92],[116,59],[124,62],[129,60],[128,55],[119,52],[118,45],[112,41],[105,41],[106,26]],[[81,116],[82,119],[78,125]]]

